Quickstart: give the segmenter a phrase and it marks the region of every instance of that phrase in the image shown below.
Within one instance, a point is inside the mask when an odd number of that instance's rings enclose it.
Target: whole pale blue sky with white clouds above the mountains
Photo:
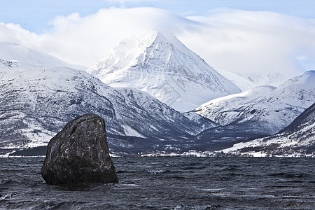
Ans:
[[[297,75],[315,69],[315,1],[0,0],[0,41],[91,66],[139,31],[172,33],[211,66]]]

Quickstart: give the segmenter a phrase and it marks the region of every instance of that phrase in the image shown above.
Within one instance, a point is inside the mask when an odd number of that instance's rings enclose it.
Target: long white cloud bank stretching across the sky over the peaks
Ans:
[[[53,29],[41,35],[0,24],[0,41],[90,66],[122,38],[159,30],[178,36],[210,65],[235,73],[296,75],[315,69],[315,20],[279,13],[220,9],[207,17],[183,18],[157,8],[109,8],[85,17],[57,16],[51,24]]]

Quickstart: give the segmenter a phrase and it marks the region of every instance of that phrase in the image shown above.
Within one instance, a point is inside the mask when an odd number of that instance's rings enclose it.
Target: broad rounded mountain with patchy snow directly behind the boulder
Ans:
[[[116,150],[163,150],[174,142],[180,148],[198,132],[217,126],[197,114],[179,113],[146,92],[104,85],[85,71],[0,64],[2,149],[43,146],[84,113],[105,119],[109,144]]]

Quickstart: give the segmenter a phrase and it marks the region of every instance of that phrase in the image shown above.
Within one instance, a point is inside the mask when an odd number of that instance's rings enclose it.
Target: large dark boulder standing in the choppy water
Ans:
[[[118,183],[104,119],[91,113],[66,124],[48,144],[41,175],[52,185]]]

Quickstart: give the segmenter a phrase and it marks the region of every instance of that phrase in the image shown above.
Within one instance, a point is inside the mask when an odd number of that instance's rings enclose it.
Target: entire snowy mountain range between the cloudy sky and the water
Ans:
[[[0,45],[0,155],[46,146],[85,113],[104,118],[111,153],[219,151],[258,144],[251,140],[269,138],[300,114],[310,119],[303,111],[315,101],[315,71],[284,83],[281,76],[251,81],[228,71],[225,78],[176,37],[158,32],[121,42],[90,73],[22,45]],[[255,87],[269,77],[282,85]],[[309,152],[312,129],[286,134],[303,137],[295,148],[309,142],[299,148]]]

